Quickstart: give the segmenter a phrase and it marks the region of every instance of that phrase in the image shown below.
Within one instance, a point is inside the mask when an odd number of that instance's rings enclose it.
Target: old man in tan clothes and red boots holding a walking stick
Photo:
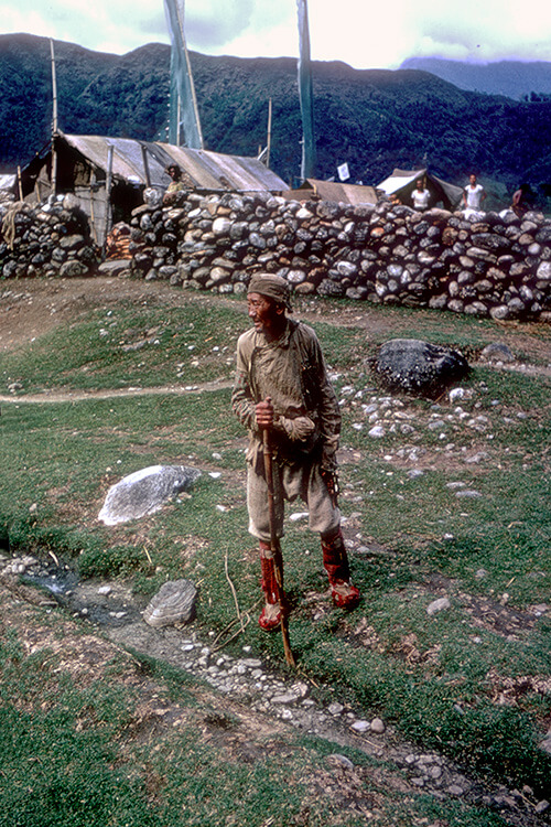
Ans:
[[[237,343],[231,406],[249,431],[249,533],[259,541],[264,592],[259,624],[271,630],[281,621],[281,606],[270,543],[264,429],[270,431],[273,453],[276,536],[283,535],[284,501],[301,497],[309,508],[309,527],[321,535],[333,602],[352,609],[359,601],[359,591],[350,582],[336,501],[341,412],[320,342],[311,327],[288,316],[289,286],[283,278],[255,275],[247,299],[252,327]]]

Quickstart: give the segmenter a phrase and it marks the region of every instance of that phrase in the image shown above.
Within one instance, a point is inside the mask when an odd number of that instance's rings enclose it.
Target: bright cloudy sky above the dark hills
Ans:
[[[183,0],[181,0],[183,2]],[[309,0],[312,58],[397,68],[412,56],[551,61],[549,0]],[[125,54],[169,43],[163,0],[0,0],[0,33]],[[191,50],[296,56],[295,0],[185,0]]]

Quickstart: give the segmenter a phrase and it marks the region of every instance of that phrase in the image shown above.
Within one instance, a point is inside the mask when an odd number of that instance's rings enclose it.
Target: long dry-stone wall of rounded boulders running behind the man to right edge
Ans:
[[[188,195],[139,207],[132,269],[145,279],[242,292],[257,270],[294,292],[447,309],[495,319],[551,311],[551,221],[541,213],[480,214],[346,206],[266,195]]]

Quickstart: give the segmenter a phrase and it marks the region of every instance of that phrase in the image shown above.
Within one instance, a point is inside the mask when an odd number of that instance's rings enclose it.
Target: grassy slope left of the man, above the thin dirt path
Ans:
[[[128,388],[210,382],[231,375],[231,342],[241,314],[213,308],[108,310],[88,313],[2,357],[0,382],[43,388]],[[228,344],[219,345],[217,331]],[[183,378],[185,377],[185,378]]]

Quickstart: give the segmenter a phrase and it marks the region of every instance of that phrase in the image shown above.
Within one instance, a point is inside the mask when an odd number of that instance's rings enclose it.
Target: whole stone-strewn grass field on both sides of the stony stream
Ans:
[[[445,396],[437,401],[395,397],[385,419],[381,399],[388,395],[366,365],[385,335],[355,323],[360,313],[356,309],[339,323],[328,305],[326,316],[312,323],[342,400],[342,509],[363,600],[349,614],[305,600],[325,589],[317,539],[303,520],[289,522],[285,578],[301,672],[479,777],[519,788],[527,784],[543,797],[551,769],[549,754],[538,748],[551,712],[551,624],[549,610],[542,609],[550,593],[549,379],[541,370],[531,375],[477,365],[463,383],[472,395],[461,402],[461,414]],[[503,326],[447,314],[386,308],[381,319],[388,320],[392,335],[399,331],[401,336],[430,337],[468,354],[479,353],[494,334],[498,341],[508,336]],[[235,617],[224,570],[227,556],[239,604],[251,605],[259,593],[253,541],[246,533],[245,434],[230,414],[228,387],[235,341],[246,326],[237,303],[215,299],[162,311],[121,304],[93,309],[71,325],[4,352],[0,383],[3,388],[14,382],[20,386],[1,406],[4,548],[44,556],[53,551],[82,577],[121,577],[143,597],[169,579],[201,579],[195,626],[205,635],[222,632]],[[523,334],[519,355],[533,367],[542,364],[542,336],[549,342],[551,331],[534,332],[539,347],[530,355],[530,332]],[[205,383],[214,385],[202,390]],[[175,385],[187,391],[173,393]],[[109,398],[94,393],[162,386],[166,393]],[[65,398],[25,401],[29,394],[40,391],[63,393]],[[381,440],[368,434],[366,411],[374,399],[388,426]],[[442,425],[433,428],[436,421]],[[400,422],[412,430],[402,431]],[[478,459],[469,462],[473,457]],[[97,514],[109,485],[152,464],[190,464],[203,476],[190,498],[170,503],[153,517],[116,528],[101,526]],[[412,476],[412,469],[422,473]],[[457,483],[477,495],[458,497],[458,488],[451,487]],[[426,606],[443,595],[450,609],[428,615]],[[279,635],[266,635],[255,624],[229,649],[244,645],[273,664],[282,662]],[[121,775],[117,769],[126,710],[137,702],[132,692],[121,691],[110,677],[96,683],[91,695],[71,681],[57,685],[63,680],[50,670],[47,658],[44,664],[40,657],[24,656],[17,635],[3,642],[2,658],[2,731],[12,733],[0,739],[2,765],[11,767],[9,778],[2,773],[2,783],[13,783],[8,804],[0,807],[25,814],[6,824],[231,824],[229,803],[241,796],[241,790],[253,787],[260,798],[271,798],[281,786],[278,773],[283,773],[284,760],[269,771],[259,765],[242,774],[236,769],[225,780],[228,804],[210,813],[208,791],[219,759],[207,747],[201,754],[191,751],[192,727],[148,758],[132,745],[129,761],[136,767],[148,763],[155,777],[164,778],[162,808],[153,814],[143,774],[136,769],[136,777]],[[39,673],[46,679],[36,688]],[[174,681],[173,691],[185,696],[185,681]],[[18,698],[28,697],[31,687],[33,700],[21,713]],[[86,710],[80,728],[79,709]],[[60,751],[55,761],[46,761],[52,742]],[[304,743],[296,754],[300,761],[315,762],[324,749]],[[91,753],[102,758],[84,788]],[[43,786],[29,796],[23,767],[31,755],[36,756],[34,767],[42,767]],[[193,755],[193,769],[186,755]],[[177,773],[168,770],[174,756]],[[74,772],[74,790],[71,780],[56,788],[55,777],[67,765]],[[257,774],[253,784],[249,777],[249,787],[247,772]],[[300,775],[298,765],[295,776]],[[183,786],[187,797],[182,809]],[[36,802],[44,801],[45,791],[52,815],[39,821],[42,807]],[[289,812],[274,821],[253,816],[260,798],[247,801],[245,795],[249,815],[235,824],[300,824],[292,819],[299,818],[305,793],[300,784],[294,793],[279,802],[278,812]],[[112,807],[115,799],[115,815],[101,809],[109,801]],[[434,815],[422,797],[414,806],[415,818],[426,818],[428,824],[436,815],[452,825],[500,823],[489,813],[446,809],[449,805]],[[72,820],[67,816],[56,821],[57,807],[74,813]],[[94,807],[102,815],[86,820]],[[305,823],[336,823],[331,814],[314,810]],[[380,812],[381,819],[392,817],[383,815],[383,804]],[[423,823],[412,818],[406,808],[403,821],[388,824]]]

